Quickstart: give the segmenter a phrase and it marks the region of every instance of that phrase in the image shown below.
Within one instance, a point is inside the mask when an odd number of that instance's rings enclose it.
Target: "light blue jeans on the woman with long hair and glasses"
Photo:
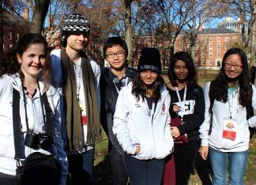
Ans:
[[[226,169],[229,169],[229,185],[242,185],[247,167],[248,150],[243,152],[220,152],[209,147],[213,168],[213,185],[226,184]]]

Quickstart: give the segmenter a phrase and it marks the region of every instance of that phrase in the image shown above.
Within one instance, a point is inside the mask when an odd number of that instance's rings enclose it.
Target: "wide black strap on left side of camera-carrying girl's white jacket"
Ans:
[[[21,150],[19,146],[20,133],[19,127],[21,124],[20,117],[20,93],[13,88],[13,135],[14,135],[14,147],[15,147],[15,159],[21,158]]]

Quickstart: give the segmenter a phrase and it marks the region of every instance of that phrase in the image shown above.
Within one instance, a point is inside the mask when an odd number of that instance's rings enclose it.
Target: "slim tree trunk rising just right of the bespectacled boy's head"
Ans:
[[[131,2],[132,0],[124,0],[124,4],[126,7],[125,14],[125,31],[126,31],[126,44],[128,47],[128,57],[129,66],[133,67],[132,64],[132,28],[131,28]]]

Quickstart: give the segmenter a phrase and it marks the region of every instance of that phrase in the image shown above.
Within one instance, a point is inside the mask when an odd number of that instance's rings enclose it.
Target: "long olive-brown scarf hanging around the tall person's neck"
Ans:
[[[100,139],[100,116],[96,99],[96,79],[85,53],[81,51],[80,56],[85,91],[85,106],[88,117],[86,144],[94,146],[95,141]],[[69,150],[82,151],[83,146],[85,146],[85,140],[83,139],[83,127],[81,124],[81,109],[77,100],[77,82],[73,69],[73,61],[67,56],[65,48],[61,50],[61,58]]]

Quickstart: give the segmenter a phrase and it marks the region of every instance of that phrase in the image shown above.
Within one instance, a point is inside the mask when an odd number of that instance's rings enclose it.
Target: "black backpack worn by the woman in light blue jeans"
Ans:
[[[213,86],[214,86],[214,83],[212,81],[210,84],[210,87],[209,87],[209,91],[211,90],[211,88],[213,88]],[[252,88],[252,87],[250,86],[250,88]],[[212,128],[213,128],[213,102],[214,102],[214,99],[215,99],[214,97],[210,98],[209,113],[211,115],[211,118],[210,118],[210,126],[209,126],[208,135],[211,135]],[[252,99],[250,99],[250,105],[248,105],[246,107],[247,108],[247,120],[249,120],[250,117],[254,116],[254,109],[251,105],[251,102],[252,102]],[[249,131],[250,131],[250,139],[252,139],[254,137],[255,128],[249,127]]]

